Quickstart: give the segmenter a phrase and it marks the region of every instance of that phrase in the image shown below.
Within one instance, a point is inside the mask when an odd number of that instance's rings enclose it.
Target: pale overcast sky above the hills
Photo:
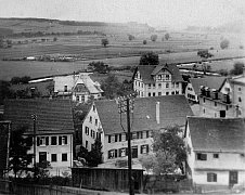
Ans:
[[[0,0],[0,17],[214,27],[245,20],[245,0]]]

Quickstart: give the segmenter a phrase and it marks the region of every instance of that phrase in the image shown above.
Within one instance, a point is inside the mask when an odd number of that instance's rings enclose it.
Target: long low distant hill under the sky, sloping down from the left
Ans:
[[[78,31],[94,32],[100,35],[140,34],[154,31],[147,24],[139,23],[103,23],[103,22],[78,22],[60,21],[49,18],[0,18],[0,36],[30,36],[77,34]]]

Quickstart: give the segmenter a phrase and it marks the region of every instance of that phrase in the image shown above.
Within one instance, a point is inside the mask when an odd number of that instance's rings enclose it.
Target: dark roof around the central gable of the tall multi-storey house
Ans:
[[[154,83],[153,76],[156,75],[160,69],[167,69],[172,75],[172,80],[176,82],[182,82],[183,78],[180,75],[179,68],[175,64],[166,64],[166,65],[140,65],[136,69],[140,72],[141,77],[144,83]]]

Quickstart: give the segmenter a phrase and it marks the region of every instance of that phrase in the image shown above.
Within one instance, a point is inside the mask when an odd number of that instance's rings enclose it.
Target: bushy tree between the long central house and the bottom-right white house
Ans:
[[[186,150],[183,140],[179,135],[181,132],[178,126],[154,132],[154,154],[142,157],[142,166],[156,176],[175,173],[178,169],[183,171],[182,164],[186,160]]]

